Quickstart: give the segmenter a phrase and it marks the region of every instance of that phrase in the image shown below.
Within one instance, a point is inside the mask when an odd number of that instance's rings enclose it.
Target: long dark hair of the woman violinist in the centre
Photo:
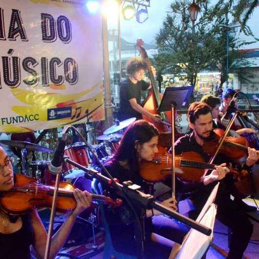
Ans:
[[[131,170],[138,170],[138,156],[135,149],[136,141],[142,145],[158,136],[158,130],[149,122],[138,120],[129,125],[121,140],[112,161],[127,161]]]

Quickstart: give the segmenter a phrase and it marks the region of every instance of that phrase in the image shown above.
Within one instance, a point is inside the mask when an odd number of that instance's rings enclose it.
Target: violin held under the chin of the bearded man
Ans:
[[[214,136],[210,140],[204,140],[202,146],[203,151],[209,155],[213,155],[220,141],[220,138],[224,134],[223,129],[214,129]],[[244,137],[226,137],[222,147],[219,149],[219,153],[224,153],[230,159],[240,159],[247,153],[248,142]]]

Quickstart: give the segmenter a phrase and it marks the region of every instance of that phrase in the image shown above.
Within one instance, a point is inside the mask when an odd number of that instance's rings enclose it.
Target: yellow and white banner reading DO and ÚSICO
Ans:
[[[104,119],[101,13],[85,0],[1,0],[0,132]]]

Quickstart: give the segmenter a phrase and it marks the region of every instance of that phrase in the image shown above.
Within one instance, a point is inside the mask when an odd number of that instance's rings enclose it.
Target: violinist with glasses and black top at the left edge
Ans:
[[[8,192],[14,187],[12,159],[0,147],[0,192]],[[74,190],[77,206],[68,216],[61,228],[52,237],[50,257],[63,247],[77,216],[90,206],[91,194]],[[35,208],[22,216],[8,216],[0,209],[0,253],[4,259],[30,259],[30,245],[33,245],[41,258],[44,257],[47,233]]]

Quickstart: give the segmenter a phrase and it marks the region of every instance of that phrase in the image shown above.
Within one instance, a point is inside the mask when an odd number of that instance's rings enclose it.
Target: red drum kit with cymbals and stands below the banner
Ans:
[[[112,155],[117,151],[120,140],[123,136],[122,129],[129,126],[130,123],[135,121],[136,118],[131,118],[122,122],[117,122],[112,127],[104,131],[104,135],[98,136],[96,139],[102,141],[98,145],[90,145],[92,150],[97,155],[98,159],[105,163]],[[37,152],[53,152],[52,149],[45,148],[41,145],[26,142],[26,141],[13,141],[13,140],[0,140],[0,143],[8,145],[21,150],[22,155],[22,173],[28,176],[36,177],[37,181],[41,184],[51,185],[55,176],[49,171],[48,165],[50,160],[35,160],[29,163],[29,167],[32,169],[32,175],[29,175],[27,164],[28,151]],[[87,148],[88,144],[85,142],[75,142],[65,147],[64,156],[81,164],[85,167],[100,171],[100,161],[97,161],[94,155]],[[85,172],[78,169],[71,164],[63,163],[62,165],[62,180],[71,182],[75,188],[82,191],[87,190],[91,193],[91,180],[84,177]],[[96,248],[95,227],[99,226],[99,216],[96,204],[92,204],[79,218],[83,222],[90,223],[92,225],[92,234],[94,239],[93,248]],[[97,222],[97,223],[96,223]]]

